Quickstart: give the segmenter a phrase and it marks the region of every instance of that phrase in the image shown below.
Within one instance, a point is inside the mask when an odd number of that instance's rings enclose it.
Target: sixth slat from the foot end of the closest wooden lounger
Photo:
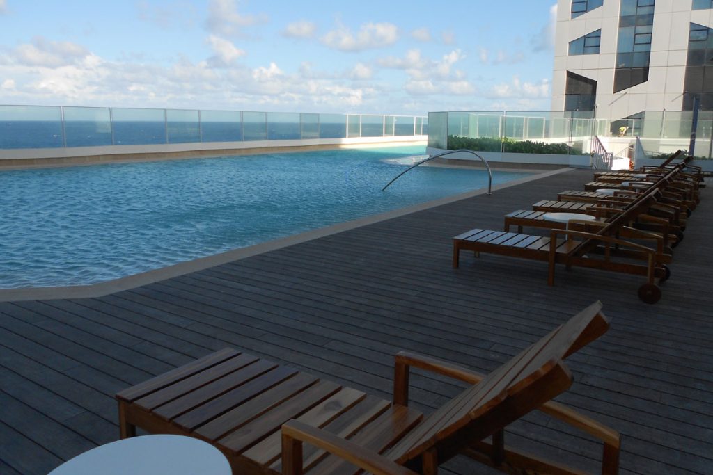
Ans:
[[[275,432],[285,422],[304,414],[341,388],[342,386],[336,382],[319,381],[306,390],[282,400],[270,410],[261,412],[259,419],[253,419],[252,422],[230,432],[219,439],[218,443],[240,454]]]

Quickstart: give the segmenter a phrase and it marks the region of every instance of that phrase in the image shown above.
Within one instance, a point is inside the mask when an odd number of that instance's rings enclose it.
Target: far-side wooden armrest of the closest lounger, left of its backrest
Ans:
[[[409,375],[410,368],[418,367],[421,370],[438,373],[439,375],[452,377],[455,380],[468,382],[471,385],[478,384],[485,375],[479,372],[468,370],[468,368],[438,360],[434,357],[417,355],[408,351],[400,351],[394,357],[394,404],[402,406],[409,405]]]

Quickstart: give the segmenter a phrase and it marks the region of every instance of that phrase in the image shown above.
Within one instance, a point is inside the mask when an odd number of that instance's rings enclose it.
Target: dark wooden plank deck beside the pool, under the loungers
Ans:
[[[713,471],[713,198],[689,220],[654,306],[642,278],[461,256],[451,237],[565,189],[571,171],[103,298],[0,303],[0,473],[46,474],[118,438],[113,395],[231,346],[389,397],[398,350],[487,372],[589,303],[612,328],[568,362],[560,397],[622,432],[622,473]],[[414,375],[429,411],[458,387]],[[543,414],[506,443],[591,471],[599,447]],[[456,459],[444,473],[491,473]]]

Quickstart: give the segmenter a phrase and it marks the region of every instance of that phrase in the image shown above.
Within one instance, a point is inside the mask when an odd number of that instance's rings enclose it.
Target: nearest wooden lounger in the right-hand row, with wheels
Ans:
[[[655,191],[642,195],[638,199],[639,206],[648,206],[649,200],[654,199],[652,193]],[[661,240],[657,240],[657,246],[652,249],[620,238],[622,228],[637,213],[640,209],[633,206],[597,230],[551,229],[549,237],[471,229],[453,237],[453,267],[458,268],[460,251],[464,249],[474,251],[476,256],[483,252],[547,262],[550,286],[555,283],[557,263],[568,268],[581,266],[630,273],[646,276],[646,283],[638,290],[639,298],[646,303],[656,303],[661,298],[661,289],[656,282],[663,282],[670,276],[665,265],[670,256],[665,253]],[[655,237],[651,236],[652,239]]]

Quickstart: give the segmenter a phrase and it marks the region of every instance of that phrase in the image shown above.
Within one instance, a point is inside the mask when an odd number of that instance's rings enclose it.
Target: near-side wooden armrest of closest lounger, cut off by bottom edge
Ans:
[[[328,451],[375,475],[416,475],[416,472],[374,451],[296,420],[282,424],[282,474],[302,475],[303,442]]]

